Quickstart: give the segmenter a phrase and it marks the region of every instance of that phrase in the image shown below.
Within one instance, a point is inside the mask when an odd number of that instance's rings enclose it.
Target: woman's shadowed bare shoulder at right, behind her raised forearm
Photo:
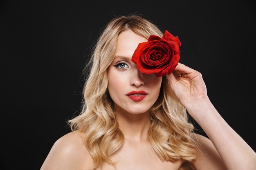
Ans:
[[[210,139],[199,134],[193,134],[193,139],[197,144],[196,159],[192,162],[195,169],[226,170],[218,151]]]

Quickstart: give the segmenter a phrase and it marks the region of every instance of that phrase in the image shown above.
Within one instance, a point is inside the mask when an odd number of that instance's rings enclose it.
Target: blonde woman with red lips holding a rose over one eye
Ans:
[[[151,35],[165,33],[138,15],[108,23],[92,53],[82,112],[41,170],[256,169],[256,153],[211,104],[202,75],[177,62],[177,37],[172,69],[143,73],[135,54]],[[186,110],[209,139],[193,133]]]

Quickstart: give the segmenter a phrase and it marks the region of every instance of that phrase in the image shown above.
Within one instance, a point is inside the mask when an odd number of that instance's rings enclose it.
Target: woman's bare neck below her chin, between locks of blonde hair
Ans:
[[[150,128],[150,111],[132,114],[116,107],[116,118],[124,137],[129,141],[147,141]]]

